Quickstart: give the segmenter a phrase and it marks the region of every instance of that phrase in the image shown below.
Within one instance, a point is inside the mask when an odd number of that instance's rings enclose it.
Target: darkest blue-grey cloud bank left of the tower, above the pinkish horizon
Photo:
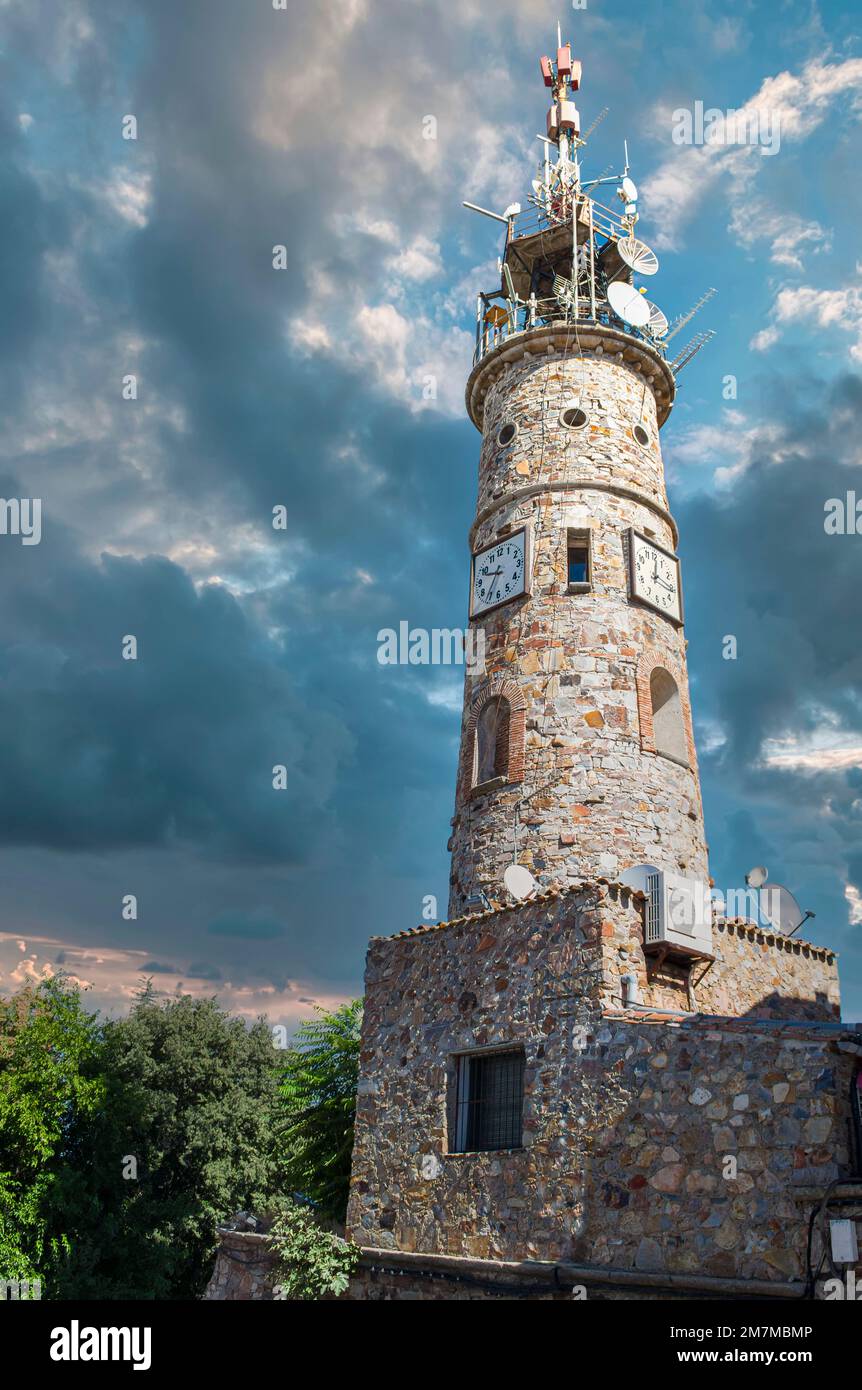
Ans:
[[[47,543],[40,555],[51,557]],[[160,557],[56,559],[0,555],[0,838],[306,859],[352,746],[339,719],[298,699],[224,589],[196,591]],[[122,659],[127,635],[136,660]],[[273,787],[277,764],[285,791]]]

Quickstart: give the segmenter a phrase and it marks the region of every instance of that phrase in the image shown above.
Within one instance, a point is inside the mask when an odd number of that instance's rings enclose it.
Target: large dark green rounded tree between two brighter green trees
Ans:
[[[145,990],[104,1029],[107,1093],[65,1176],[78,1240],[61,1297],[193,1298],[220,1220],[274,1193],[278,1054],[216,999]]]

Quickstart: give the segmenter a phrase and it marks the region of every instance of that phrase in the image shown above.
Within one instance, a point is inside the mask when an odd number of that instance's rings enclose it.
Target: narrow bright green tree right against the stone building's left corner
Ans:
[[[361,999],[302,1023],[282,1073],[282,1183],[341,1222],[348,1209]]]

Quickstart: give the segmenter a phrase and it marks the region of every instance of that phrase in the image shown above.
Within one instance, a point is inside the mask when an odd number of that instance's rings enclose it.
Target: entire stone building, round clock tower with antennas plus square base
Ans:
[[[559,157],[502,218],[467,382],[450,920],[368,951],[353,1297],[798,1298],[862,1215],[862,1034],[833,952],[713,913],[659,443],[684,363],[634,185],[581,183],[580,64],[542,75]]]

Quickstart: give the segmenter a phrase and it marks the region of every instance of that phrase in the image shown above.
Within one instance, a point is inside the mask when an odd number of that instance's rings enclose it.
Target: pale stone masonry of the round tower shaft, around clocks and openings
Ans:
[[[560,424],[570,404],[588,413],[584,430]],[[517,434],[501,448],[509,421]],[[649,435],[645,448],[634,441],[637,424]],[[633,366],[609,352],[570,350],[526,356],[499,373],[484,406],[471,548],[524,521],[532,594],[475,620],[487,669],[464,684],[450,916],[478,887],[499,892],[516,840],[519,862],[544,885],[616,877],[644,862],[708,874],[683,631],[628,599],[628,527],[676,549],[655,399]],[[591,534],[589,592],[569,592],[569,528]],[[656,753],[642,719],[644,681],[656,664],[680,688],[690,766]],[[524,758],[514,778],[477,792],[470,714],[499,680],[526,701]]]

